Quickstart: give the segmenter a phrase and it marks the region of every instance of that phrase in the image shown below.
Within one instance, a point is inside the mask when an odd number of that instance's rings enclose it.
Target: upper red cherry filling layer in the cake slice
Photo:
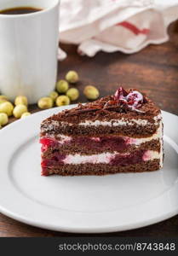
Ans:
[[[67,144],[68,146],[94,149],[97,151],[103,151],[109,148],[112,151],[122,151],[129,149],[129,144],[134,143],[135,139],[129,137],[72,137],[70,140],[57,141],[53,138],[42,138],[42,152],[48,148],[59,148],[60,146]]]

